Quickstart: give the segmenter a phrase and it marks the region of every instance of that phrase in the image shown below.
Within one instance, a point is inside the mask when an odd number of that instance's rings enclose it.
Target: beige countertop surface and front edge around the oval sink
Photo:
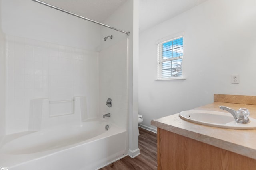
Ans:
[[[250,111],[249,118],[256,119],[256,105],[234,104],[224,102],[214,102],[192,110],[212,110],[222,111],[219,106],[227,106],[238,110],[247,108]],[[228,113],[228,112],[227,112]],[[235,130],[218,127],[199,125],[185,121],[179,117],[179,113],[152,120],[151,125],[170,131],[215,147],[219,147],[249,158],[256,159],[256,129],[255,130]]]

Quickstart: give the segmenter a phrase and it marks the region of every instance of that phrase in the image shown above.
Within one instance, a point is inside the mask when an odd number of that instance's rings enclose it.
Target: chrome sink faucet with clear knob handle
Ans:
[[[229,107],[226,107],[226,106],[220,106],[219,108],[231,113],[237,123],[245,124],[245,123],[250,122],[249,117],[248,117],[250,113],[249,113],[249,110],[246,108],[240,108],[238,111],[230,109]]]

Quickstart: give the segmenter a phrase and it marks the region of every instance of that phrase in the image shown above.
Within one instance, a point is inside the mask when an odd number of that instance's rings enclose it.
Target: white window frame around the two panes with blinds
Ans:
[[[170,57],[169,59],[163,59],[163,44],[167,43],[167,42],[174,41],[176,39],[180,39],[180,38],[183,38],[182,41],[184,42],[184,32],[177,33],[175,35],[165,37],[164,39],[160,39],[156,42],[156,45],[157,45],[157,48],[156,48],[157,49],[157,79],[156,80],[180,80],[180,79],[185,79],[184,78],[184,70],[183,70],[183,68],[184,68],[184,66],[183,66],[184,53],[183,53],[182,56]],[[184,49],[184,45],[183,45],[183,49]],[[181,76],[162,77],[162,63],[166,62],[166,61],[174,61],[174,60],[178,60],[178,59],[182,59],[182,75]]]

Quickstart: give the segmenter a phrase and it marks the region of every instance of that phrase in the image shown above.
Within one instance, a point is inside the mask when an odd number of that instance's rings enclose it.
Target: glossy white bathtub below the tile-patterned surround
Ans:
[[[126,156],[127,137],[126,129],[101,119],[6,135],[0,146],[0,167],[94,170]]]

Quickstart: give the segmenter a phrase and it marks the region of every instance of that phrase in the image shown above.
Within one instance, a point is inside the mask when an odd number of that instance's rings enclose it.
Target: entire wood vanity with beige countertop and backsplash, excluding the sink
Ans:
[[[214,103],[196,110],[220,111],[219,106],[247,108],[256,119],[256,96],[214,94]],[[151,125],[158,128],[158,170],[256,170],[256,129],[204,126],[179,114],[152,120]]]

